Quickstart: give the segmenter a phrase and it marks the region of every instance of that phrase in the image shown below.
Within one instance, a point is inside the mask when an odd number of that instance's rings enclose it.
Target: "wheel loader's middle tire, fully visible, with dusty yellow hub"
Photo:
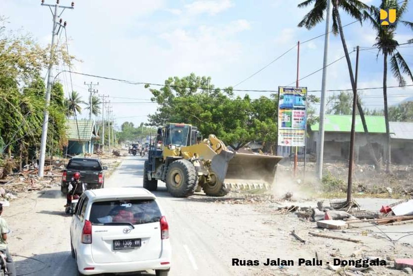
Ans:
[[[194,194],[198,184],[194,165],[184,159],[172,162],[166,172],[166,189],[176,198],[186,198]]]

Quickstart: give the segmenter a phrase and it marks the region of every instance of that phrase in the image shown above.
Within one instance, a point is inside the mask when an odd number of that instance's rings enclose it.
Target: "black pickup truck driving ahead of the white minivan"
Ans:
[[[103,188],[103,170],[107,170],[107,167],[102,166],[102,162],[98,158],[73,157],[69,160],[66,169],[63,171],[60,191],[63,194],[69,192],[69,182],[72,180],[75,172],[80,172],[80,180],[87,184],[86,189]]]

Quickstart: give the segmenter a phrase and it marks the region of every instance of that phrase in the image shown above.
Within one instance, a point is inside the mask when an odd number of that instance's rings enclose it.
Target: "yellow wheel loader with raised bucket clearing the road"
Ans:
[[[143,187],[156,191],[158,180],[174,197],[189,197],[201,189],[222,197],[227,185],[271,185],[280,156],[237,153],[214,135],[199,141],[197,127],[168,123],[158,128],[144,163]]]

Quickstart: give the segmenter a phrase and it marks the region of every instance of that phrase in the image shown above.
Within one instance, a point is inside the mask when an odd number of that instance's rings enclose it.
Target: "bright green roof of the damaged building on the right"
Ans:
[[[364,116],[369,133],[386,133],[384,116]],[[311,131],[318,131],[318,123],[310,126]],[[350,132],[351,115],[325,115],[324,131]],[[356,116],[356,132],[364,132],[360,116]]]

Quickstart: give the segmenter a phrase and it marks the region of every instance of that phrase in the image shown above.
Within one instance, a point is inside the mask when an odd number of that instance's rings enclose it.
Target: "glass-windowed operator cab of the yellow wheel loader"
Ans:
[[[164,145],[190,146],[197,143],[197,127],[187,124],[167,124]]]

